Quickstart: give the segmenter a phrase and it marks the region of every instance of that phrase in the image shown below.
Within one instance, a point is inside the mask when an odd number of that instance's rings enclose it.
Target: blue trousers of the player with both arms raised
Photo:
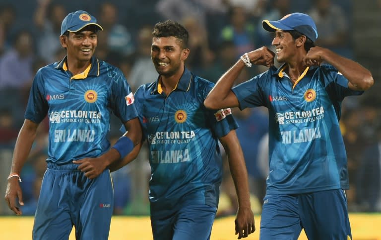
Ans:
[[[352,239],[343,190],[264,197],[260,240],[297,240],[302,229],[309,240]]]

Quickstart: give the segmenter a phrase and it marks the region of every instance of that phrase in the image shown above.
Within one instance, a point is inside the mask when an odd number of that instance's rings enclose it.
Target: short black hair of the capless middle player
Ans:
[[[156,23],[153,27],[152,36],[154,38],[175,37],[180,40],[182,48],[188,48],[188,30],[178,22],[167,20]]]

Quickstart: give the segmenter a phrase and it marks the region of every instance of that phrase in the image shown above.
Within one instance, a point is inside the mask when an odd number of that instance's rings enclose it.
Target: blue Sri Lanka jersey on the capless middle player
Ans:
[[[168,96],[160,81],[134,97],[149,146],[151,216],[168,216],[184,205],[217,207],[222,178],[218,137],[237,128],[230,109],[212,111],[203,101],[213,83],[185,68]]]

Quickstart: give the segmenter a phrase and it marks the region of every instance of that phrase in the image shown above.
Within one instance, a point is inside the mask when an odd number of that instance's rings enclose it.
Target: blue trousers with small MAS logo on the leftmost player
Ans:
[[[89,180],[76,165],[48,163],[33,225],[34,240],[107,240],[114,208],[114,190],[107,169]]]

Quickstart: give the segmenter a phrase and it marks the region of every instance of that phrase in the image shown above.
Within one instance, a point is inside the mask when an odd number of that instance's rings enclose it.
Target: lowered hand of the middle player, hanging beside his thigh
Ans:
[[[234,222],[238,239],[247,238],[255,231],[254,214],[251,208],[239,208]]]

